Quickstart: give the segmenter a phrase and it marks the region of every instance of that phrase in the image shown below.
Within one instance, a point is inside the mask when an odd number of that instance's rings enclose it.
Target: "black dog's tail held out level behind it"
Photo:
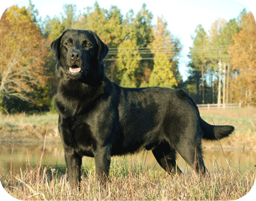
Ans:
[[[201,128],[203,130],[203,139],[216,140],[229,136],[235,128],[233,126],[214,126],[200,118]]]

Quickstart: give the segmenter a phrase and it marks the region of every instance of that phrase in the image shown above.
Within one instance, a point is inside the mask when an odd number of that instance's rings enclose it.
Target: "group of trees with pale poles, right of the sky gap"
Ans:
[[[190,47],[187,87],[197,103],[256,105],[256,25],[251,12],[198,25]]]

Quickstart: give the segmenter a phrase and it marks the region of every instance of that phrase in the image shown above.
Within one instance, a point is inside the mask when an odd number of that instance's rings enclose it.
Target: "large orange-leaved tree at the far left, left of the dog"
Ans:
[[[46,83],[44,62],[47,45],[34,18],[26,8],[14,5],[0,21],[0,101],[19,98],[42,105],[36,98]],[[37,92],[36,92],[37,91]]]

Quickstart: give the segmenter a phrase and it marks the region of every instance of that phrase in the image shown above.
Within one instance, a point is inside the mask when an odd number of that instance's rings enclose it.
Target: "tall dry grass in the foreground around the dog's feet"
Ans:
[[[205,176],[194,171],[168,176],[127,158],[114,159],[111,182],[103,187],[95,180],[94,167],[84,170],[81,190],[66,181],[63,170],[27,165],[18,175],[1,176],[4,189],[19,200],[236,200],[246,195],[255,181],[255,168],[241,173],[216,167]],[[62,172],[61,172],[62,171]]]

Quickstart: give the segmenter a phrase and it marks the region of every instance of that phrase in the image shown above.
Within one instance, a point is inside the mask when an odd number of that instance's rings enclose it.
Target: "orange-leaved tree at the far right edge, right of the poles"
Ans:
[[[233,97],[237,101],[256,101],[256,24],[251,12],[241,18],[240,31],[229,48],[232,55]]]

